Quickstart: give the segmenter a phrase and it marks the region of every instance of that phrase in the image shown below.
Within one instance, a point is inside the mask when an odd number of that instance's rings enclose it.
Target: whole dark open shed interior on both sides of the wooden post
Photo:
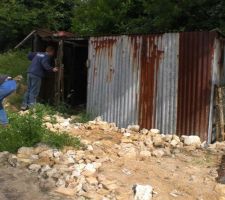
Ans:
[[[63,44],[63,48],[60,48],[60,44]],[[58,95],[60,95],[60,103],[65,103],[72,109],[86,108],[88,39],[45,39],[36,35],[33,41],[33,51],[45,51],[48,45],[56,49],[52,65],[55,65],[54,62],[57,63],[57,60],[61,60],[63,70],[60,80],[62,81],[60,81],[59,89],[58,74],[47,73],[42,80],[39,101],[57,105]],[[62,51],[62,58],[59,58],[59,51]]]

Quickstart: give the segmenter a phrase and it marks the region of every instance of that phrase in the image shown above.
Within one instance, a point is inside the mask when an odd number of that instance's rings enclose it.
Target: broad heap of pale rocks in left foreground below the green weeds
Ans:
[[[37,174],[44,190],[77,197],[76,199],[115,199],[118,184],[98,171],[110,159],[96,157],[90,150],[58,150],[39,144],[22,147],[17,155],[0,153],[0,161],[27,168]],[[78,198],[79,197],[79,198]]]

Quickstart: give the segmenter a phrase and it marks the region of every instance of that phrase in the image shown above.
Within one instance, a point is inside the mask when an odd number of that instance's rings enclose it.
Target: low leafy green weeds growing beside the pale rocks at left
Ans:
[[[43,125],[46,112],[50,111],[39,105],[25,115],[10,113],[10,125],[0,129],[0,151],[16,152],[22,146],[30,147],[40,142],[56,148],[79,148],[81,143],[78,138],[66,133],[53,133]]]

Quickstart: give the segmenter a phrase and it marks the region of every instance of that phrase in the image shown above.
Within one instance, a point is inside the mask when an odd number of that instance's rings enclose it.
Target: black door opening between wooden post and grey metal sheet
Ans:
[[[86,106],[88,41],[64,42],[64,101],[72,107]]]

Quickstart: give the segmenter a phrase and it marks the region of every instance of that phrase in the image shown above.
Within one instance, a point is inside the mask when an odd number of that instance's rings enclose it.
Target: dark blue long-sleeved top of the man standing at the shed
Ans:
[[[45,52],[30,52],[28,59],[31,60],[31,65],[28,68],[28,73],[36,75],[40,78],[44,77],[47,71],[52,71],[50,57]]]

